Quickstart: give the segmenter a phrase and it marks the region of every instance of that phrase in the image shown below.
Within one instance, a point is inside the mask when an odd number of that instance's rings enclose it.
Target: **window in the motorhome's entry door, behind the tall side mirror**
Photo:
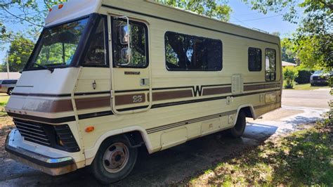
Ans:
[[[113,63],[116,67],[148,66],[148,30],[141,22],[112,18]],[[128,44],[128,42],[130,44]],[[130,46],[130,48],[128,48]]]

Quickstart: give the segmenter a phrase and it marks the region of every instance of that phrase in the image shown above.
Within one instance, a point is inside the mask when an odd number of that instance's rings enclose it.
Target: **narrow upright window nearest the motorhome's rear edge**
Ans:
[[[276,78],[276,51],[275,49],[266,49],[265,51],[265,79],[266,81],[275,81]]]

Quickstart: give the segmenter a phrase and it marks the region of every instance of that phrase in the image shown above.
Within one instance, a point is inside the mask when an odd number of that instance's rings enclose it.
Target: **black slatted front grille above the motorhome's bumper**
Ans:
[[[18,119],[14,119],[14,123],[25,141],[71,153],[80,150],[67,124],[51,125]]]

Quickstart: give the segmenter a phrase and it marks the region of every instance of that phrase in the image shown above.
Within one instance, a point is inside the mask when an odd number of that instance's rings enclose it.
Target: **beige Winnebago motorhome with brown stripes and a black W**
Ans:
[[[6,105],[6,150],[52,175],[124,179],[155,153],[281,106],[280,39],[143,0],[54,6]]]

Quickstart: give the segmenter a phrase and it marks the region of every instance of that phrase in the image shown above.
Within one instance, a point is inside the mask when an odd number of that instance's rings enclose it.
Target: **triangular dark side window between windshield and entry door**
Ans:
[[[105,47],[105,18],[101,18],[82,65],[105,66],[107,63],[107,50]]]

